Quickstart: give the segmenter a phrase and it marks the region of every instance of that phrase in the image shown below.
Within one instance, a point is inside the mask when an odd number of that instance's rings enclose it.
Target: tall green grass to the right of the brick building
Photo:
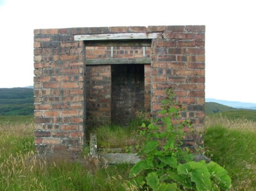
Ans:
[[[228,171],[233,190],[256,190],[256,122],[206,117],[206,154]]]

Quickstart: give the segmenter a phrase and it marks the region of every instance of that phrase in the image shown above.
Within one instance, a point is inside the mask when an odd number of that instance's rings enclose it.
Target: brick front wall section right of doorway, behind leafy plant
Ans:
[[[152,114],[160,110],[165,89],[172,87],[177,101],[187,108],[196,132],[204,129],[204,26],[167,26],[163,39],[152,41]],[[202,144],[198,133],[189,135],[185,144]]]

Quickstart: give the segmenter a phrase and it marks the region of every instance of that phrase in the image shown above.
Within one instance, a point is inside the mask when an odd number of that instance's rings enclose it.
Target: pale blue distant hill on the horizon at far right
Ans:
[[[240,109],[255,109],[256,110],[256,104],[255,103],[247,103],[247,102],[233,102],[233,101],[226,101],[226,100],[217,100],[212,98],[206,98],[206,102],[215,102],[222,105],[226,105],[229,107],[234,108],[240,108]]]

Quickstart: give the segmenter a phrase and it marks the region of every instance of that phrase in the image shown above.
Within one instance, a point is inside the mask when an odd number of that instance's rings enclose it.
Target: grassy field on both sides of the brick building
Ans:
[[[31,119],[9,121],[0,120],[0,190],[127,190],[129,165],[38,159],[34,156]],[[117,129],[120,135],[122,129]],[[206,155],[228,171],[232,190],[256,190],[255,139],[255,122],[206,117]]]

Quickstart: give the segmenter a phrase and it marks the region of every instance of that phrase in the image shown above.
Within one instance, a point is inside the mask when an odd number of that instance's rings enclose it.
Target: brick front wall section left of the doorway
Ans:
[[[68,30],[34,30],[35,148],[77,153],[84,134],[83,43]]]

